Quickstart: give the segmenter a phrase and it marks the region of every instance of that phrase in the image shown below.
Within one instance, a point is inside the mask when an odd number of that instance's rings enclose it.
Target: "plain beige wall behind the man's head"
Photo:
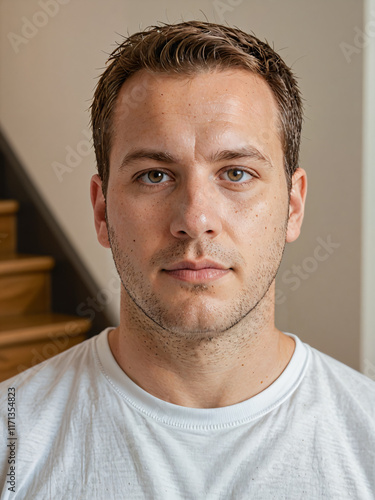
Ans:
[[[49,13],[41,14],[42,4]],[[274,44],[305,98],[301,166],[309,177],[303,233],[287,246],[279,273],[277,324],[358,369],[362,51],[345,57],[342,44],[356,48],[362,1],[2,0],[0,6],[1,125],[102,288],[113,265],[94,233],[88,186],[95,160],[85,134],[96,78],[121,39],[116,33],[207,16]],[[29,21],[45,25],[33,30]],[[79,154],[68,158],[71,171],[59,179],[52,165],[69,167],[66,148]],[[327,250],[330,241],[335,246]],[[116,298],[109,308],[115,321]]]

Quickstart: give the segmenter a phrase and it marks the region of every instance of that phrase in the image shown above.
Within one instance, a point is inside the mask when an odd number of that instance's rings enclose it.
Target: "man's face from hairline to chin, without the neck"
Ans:
[[[120,91],[109,240],[139,313],[176,335],[230,328],[274,281],[289,209],[277,117],[268,85],[242,69],[140,71]]]

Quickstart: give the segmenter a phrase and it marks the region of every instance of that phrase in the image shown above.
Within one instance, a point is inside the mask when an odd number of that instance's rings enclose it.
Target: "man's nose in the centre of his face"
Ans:
[[[206,179],[180,186],[171,206],[172,235],[179,239],[216,238],[222,232],[215,186]]]

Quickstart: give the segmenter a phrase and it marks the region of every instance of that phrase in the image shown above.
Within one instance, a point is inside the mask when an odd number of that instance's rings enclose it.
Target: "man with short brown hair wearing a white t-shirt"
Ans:
[[[274,324],[301,123],[290,69],[238,29],[155,26],[114,51],[91,199],[120,325],[1,385],[14,498],[374,498],[375,384]]]

